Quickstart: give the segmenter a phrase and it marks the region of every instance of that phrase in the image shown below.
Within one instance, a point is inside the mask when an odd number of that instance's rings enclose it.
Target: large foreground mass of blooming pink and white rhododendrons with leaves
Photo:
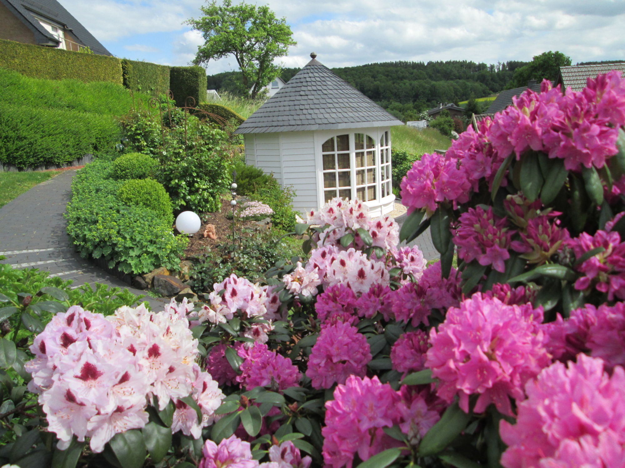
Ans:
[[[617,72],[544,82],[414,163],[401,230],[335,198],[264,283],[57,314],[26,364],[57,466],[624,466],[623,125]]]

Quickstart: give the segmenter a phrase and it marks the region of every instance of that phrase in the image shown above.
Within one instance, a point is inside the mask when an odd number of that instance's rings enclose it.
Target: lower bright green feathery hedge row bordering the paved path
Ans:
[[[27,168],[107,149],[121,130],[111,115],[0,103],[0,162]]]

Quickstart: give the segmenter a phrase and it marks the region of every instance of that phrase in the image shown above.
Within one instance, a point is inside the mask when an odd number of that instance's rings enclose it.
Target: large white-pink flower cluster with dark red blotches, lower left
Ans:
[[[216,383],[194,363],[197,340],[186,318],[187,306],[173,303],[163,313],[145,306],[121,307],[104,318],[79,306],[57,314],[31,346],[27,363],[29,389],[39,393],[50,431],[59,447],[91,437],[91,449],[101,452],[118,432],[143,427],[153,396],[159,409],[170,399],[178,415],[173,431],[199,434],[211,424],[224,398]],[[188,417],[179,399],[191,394],[204,420]],[[186,406],[186,405],[184,405]]]

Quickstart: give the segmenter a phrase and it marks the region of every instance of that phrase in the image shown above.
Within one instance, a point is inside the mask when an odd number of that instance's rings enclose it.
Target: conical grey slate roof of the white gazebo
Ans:
[[[315,54],[234,133],[357,129],[403,125],[318,62]]]

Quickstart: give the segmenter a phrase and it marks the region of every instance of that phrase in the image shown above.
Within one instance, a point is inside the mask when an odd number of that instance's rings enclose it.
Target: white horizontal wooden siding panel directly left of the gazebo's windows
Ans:
[[[317,209],[317,169],[314,152],[314,132],[284,132],[281,134],[284,184],[296,191],[293,207],[306,214]]]

